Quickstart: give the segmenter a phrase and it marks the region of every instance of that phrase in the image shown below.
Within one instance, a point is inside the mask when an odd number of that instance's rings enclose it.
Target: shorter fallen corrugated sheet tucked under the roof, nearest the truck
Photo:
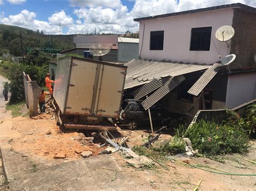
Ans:
[[[163,79],[154,79],[151,82],[144,84],[142,87],[133,92],[135,100],[139,100],[140,98],[146,96],[152,91],[163,87],[167,80],[169,80],[169,78],[170,77],[164,77]]]

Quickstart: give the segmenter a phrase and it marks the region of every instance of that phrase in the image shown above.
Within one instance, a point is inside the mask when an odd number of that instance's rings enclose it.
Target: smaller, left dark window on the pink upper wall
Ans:
[[[150,32],[150,50],[161,51],[164,49],[164,31]]]

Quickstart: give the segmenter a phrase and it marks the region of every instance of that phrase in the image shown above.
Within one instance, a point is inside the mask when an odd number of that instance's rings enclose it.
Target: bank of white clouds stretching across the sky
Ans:
[[[0,0],[0,2],[3,0]],[[7,1],[7,0],[6,0]],[[14,1],[14,0],[9,0]],[[24,0],[22,0],[24,1]],[[76,19],[66,15],[65,11],[54,13],[48,20],[36,19],[36,13],[23,10],[17,15],[4,17],[0,14],[0,23],[17,25],[32,30],[43,30],[45,33],[59,33],[59,23],[68,28],[68,34],[77,33],[124,33],[127,30],[135,32],[139,23],[133,18],[161,15],[164,13],[206,8],[230,3],[244,3],[256,6],[254,0],[136,0],[129,12],[120,0],[69,0],[73,6]],[[129,0],[133,1],[133,0]],[[60,29],[61,30],[61,29]],[[62,30],[61,30],[62,32]]]

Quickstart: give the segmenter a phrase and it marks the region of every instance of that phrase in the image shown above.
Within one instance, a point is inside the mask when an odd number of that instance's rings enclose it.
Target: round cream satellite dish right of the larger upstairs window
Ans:
[[[221,26],[215,33],[215,37],[217,40],[221,42],[225,42],[227,40],[230,40],[234,36],[234,29],[232,26]]]

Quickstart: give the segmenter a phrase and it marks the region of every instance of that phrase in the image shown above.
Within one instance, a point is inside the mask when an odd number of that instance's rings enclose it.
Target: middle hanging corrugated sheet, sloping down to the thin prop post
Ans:
[[[170,77],[163,87],[155,91],[151,96],[147,97],[142,102],[142,106],[145,110],[149,109],[153,104],[158,102],[162,97],[168,94],[171,90],[176,88],[182,81],[185,80],[183,75]]]

